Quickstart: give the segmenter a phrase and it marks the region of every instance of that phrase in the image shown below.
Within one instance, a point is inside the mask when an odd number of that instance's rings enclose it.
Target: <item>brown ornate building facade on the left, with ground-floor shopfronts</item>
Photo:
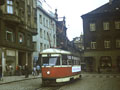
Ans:
[[[5,0],[0,6],[0,63],[4,75],[9,75],[7,67],[12,67],[15,74],[16,66],[27,64],[33,66],[32,36],[36,29],[36,0]]]

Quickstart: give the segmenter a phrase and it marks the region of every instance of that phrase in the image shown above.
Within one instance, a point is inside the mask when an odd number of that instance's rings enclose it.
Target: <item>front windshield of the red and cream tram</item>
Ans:
[[[43,66],[60,65],[60,57],[43,57],[42,65]]]

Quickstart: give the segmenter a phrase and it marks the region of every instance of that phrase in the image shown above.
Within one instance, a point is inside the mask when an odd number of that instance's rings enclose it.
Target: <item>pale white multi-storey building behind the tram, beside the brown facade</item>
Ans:
[[[37,1],[37,35],[33,37],[35,52],[34,60],[38,60],[39,53],[47,48],[56,47],[56,22],[55,17],[42,8],[42,3]]]

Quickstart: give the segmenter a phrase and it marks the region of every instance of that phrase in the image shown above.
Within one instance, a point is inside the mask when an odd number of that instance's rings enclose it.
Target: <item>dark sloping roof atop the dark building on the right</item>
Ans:
[[[101,14],[101,13],[112,13],[112,12],[116,12],[119,11],[120,12],[120,0],[113,0],[112,3],[106,3],[104,5],[102,5],[101,7],[87,13],[84,14],[83,16],[86,15],[93,15],[93,14]]]

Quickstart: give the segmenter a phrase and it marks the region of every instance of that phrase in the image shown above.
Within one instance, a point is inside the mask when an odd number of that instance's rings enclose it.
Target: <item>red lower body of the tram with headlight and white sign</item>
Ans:
[[[79,78],[81,71],[80,66],[69,67],[42,67],[42,78],[54,79],[55,82],[67,82],[71,79]]]

